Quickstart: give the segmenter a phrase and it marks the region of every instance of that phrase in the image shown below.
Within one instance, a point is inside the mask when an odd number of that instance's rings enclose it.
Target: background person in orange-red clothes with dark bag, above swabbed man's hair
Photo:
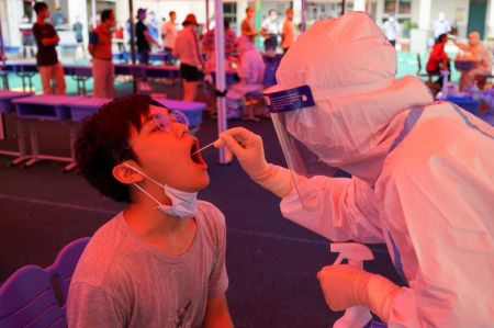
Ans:
[[[92,77],[94,78],[94,98],[113,98],[114,69],[112,63],[112,33],[115,25],[113,10],[101,12],[101,24],[89,35],[89,54],[92,56]]]

